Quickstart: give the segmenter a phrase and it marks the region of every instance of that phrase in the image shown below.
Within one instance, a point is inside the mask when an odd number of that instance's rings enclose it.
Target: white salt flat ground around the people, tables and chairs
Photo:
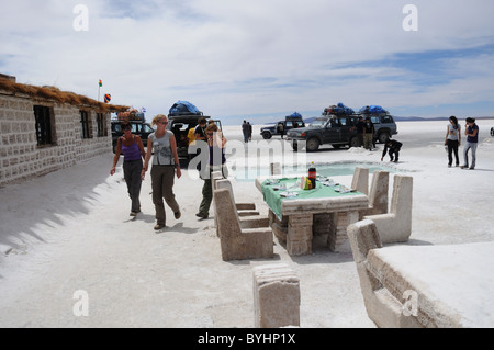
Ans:
[[[278,138],[263,142],[255,126],[254,148],[246,151],[240,126],[224,132],[236,200],[255,202],[261,215],[268,208],[254,179],[234,178],[243,167],[266,168],[271,161],[383,165],[413,176],[408,245],[429,246],[494,240],[494,137],[489,135],[494,121],[478,124],[473,171],[447,168],[446,122],[398,123],[394,138],[404,146],[397,165],[381,163],[379,144],[373,151],[323,147],[294,155]],[[266,145],[276,151],[254,151]],[[301,327],[375,327],[363,306],[351,253],[330,252],[316,242],[312,255],[290,257],[276,240],[273,259],[224,262],[214,212],[205,221],[194,215],[203,184],[194,170],[184,170],[173,188],[182,217],[176,221],[168,210],[168,227],[156,233],[149,174],[141,194],[143,212],[133,221],[122,161],[110,177],[112,158],[109,153],[0,189],[0,327],[249,328],[252,267],[278,262],[300,276]],[[349,185],[351,176],[337,181]],[[88,297],[87,316],[78,307],[81,292]]]

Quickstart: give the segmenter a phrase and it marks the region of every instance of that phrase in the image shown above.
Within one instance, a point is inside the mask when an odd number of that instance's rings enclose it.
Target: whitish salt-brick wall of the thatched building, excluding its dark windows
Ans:
[[[38,147],[34,105],[52,108],[53,146]],[[112,149],[110,113],[108,136],[97,137],[97,111],[89,112],[92,138],[81,138],[80,109],[49,101],[33,101],[0,91],[0,188],[71,167]]]

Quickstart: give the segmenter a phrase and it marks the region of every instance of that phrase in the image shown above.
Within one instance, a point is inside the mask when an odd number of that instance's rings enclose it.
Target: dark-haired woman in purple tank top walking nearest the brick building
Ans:
[[[115,148],[115,157],[113,158],[113,167],[110,174],[115,173],[115,167],[119,162],[120,155],[124,156],[124,179],[127,184],[128,196],[132,201],[131,216],[137,216],[141,212],[141,171],[143,170],[143,158],[146,158],[143,140],[138,135],[132,134],[132,125],[130,123],[121,124],[124,135],[119,137]]]

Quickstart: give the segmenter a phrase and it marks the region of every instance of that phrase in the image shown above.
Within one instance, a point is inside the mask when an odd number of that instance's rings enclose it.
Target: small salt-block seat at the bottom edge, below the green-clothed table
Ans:
[[[285,263],[254,268],[256,328],[300,326],[300,280]]]

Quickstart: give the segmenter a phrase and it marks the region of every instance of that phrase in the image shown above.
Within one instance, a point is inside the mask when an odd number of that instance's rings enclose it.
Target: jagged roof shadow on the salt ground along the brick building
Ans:
[[[89,214],[101,194],[96,188],[110,177],[112,155],[0,189],[0,257],[25,253],[31,240],[46,242],[64,219]],[[108,184],[110,185],[110,184]]]

